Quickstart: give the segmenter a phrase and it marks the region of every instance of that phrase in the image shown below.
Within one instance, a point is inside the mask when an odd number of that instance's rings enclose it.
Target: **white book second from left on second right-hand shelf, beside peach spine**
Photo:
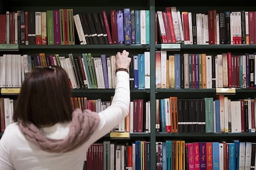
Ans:
[[[166,89],[167,87],[166,60],[167,60],[167,51],[161,51],[161,89]]]

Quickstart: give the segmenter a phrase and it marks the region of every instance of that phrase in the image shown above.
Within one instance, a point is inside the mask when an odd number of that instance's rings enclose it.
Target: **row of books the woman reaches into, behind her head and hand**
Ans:
[[[131,87],[150,89],[150,52],[133,55],[132,59],[129,72]],[[72,89],[114,89],[116,87],[116,55],[3,54],[0,56],[0,61],[0,87],[21,87],[23,80],[33,67],[53,65],[66,70]]]

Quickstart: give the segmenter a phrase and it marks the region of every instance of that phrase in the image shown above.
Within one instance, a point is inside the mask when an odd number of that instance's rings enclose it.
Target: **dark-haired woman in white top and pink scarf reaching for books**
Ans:
[[[129,113],[128,56],[117,52],[115,94],[100,113],[72,112],[69,78],[62,68],[34,68],[15,103],[15,123],[0,140],[0,169],[82,169],[88,147]]]

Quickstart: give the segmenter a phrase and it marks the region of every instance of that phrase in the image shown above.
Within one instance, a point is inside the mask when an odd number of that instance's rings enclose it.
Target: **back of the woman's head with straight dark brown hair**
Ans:
[[[70,84],[61,67],[36,67],[25,78],[15,103],[14,121],[48,126],[70,121]]]

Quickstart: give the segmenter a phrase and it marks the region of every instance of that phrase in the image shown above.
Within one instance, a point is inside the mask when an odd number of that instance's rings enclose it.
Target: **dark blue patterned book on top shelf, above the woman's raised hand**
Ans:
[[[124,8],[124,44],[132,44],[130,9]]]

